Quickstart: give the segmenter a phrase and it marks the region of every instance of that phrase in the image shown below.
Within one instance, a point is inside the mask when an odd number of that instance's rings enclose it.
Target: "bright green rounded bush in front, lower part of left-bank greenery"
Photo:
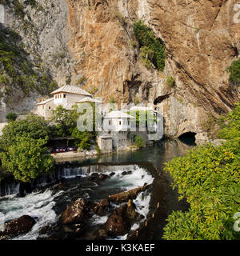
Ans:
[[[46,145],[46,139],[18,137],[14,145],[0,154],[2,167],[21,182],[31,182],[39,174],[49,172],[54,167]]]

